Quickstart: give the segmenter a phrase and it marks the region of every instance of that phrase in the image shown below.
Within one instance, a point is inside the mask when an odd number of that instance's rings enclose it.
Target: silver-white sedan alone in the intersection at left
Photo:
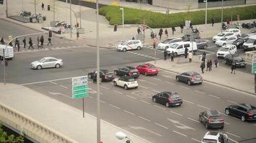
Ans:
[[[57,59],[54,57],[44,57],[38,61],[33,61],[30,64],[31,69],[42,69],[42,68],[60,68],[63,66],[63,59]]]

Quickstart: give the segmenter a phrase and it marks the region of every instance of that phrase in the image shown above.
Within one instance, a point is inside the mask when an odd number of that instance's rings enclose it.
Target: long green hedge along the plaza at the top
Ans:
[[[256,19],[256,6],[244,6],[237,8],[224,9],[223,19],[227,21],[232,16],[233,20],[237,20],[239,14],[240,20]],[[106,16],[109,24],[122,24],[122,11],[120,6],[104,6],[99,9],[99,14]],[[221,21],[221,9],[211,9],[207,12],[207,22],[211,23],[211,18],[214,17],[215,22]],[[160,14],[152,11],[145,11],[140,9],[131,9],[124,7],[124,24],[142,24],[145,23],[151,28],[166,28],[170,26],[179,26],[184,24],[185,20],[193,21],[193,24],[205,23],[205,11],[190,11],[180,12],[177,14]]]

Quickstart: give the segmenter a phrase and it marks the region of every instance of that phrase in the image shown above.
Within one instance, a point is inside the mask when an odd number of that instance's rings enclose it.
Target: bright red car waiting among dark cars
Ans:
[[[145,74],[145,76],[157,75],[158,71],[159,71],[154,65],[148,64],[148,63],[140,64],[139,66],[135,66],[135,69],[138,69],[140,74]]]

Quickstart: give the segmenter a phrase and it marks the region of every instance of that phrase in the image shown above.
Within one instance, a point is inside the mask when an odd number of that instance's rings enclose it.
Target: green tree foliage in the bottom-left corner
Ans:
[[[24,143],[24,137],[22,135],[19,135],[19,137],[15,137],[14,134],[9,135],[4,132],[4,130],[1,128],[2,124],[0,123],[0,142],[1,143]]]

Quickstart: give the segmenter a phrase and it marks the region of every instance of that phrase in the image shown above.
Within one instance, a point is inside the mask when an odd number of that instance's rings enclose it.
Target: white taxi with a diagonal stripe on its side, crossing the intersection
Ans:
[[[128,41],[123,41],[121,44],[116,46],[116,51],[142,49],[142,47],[143,47],[143,44],[140,40],[128,40]]]

